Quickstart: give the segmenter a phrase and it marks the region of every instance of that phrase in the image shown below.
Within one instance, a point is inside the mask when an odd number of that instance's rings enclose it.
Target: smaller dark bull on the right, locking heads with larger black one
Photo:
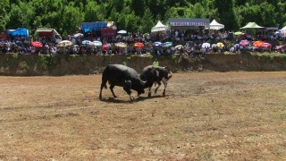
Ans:
[[[172,78],[172,72],[170,69],[165,66],[153,66],[148,65],[143,69],[143,71],[140,73],[139,78],[141,80],[147,81],[145,84],[145,88],[149,89],[148,97],[151,97],[151,88],[155,84],[158,84],[158,86],[155,89],[155,93],[157,92],[157,89],[161,86],[161,81],[164,84],[164,91],[163,96],[165,96],[166,87],[168,85],[168,80]]]

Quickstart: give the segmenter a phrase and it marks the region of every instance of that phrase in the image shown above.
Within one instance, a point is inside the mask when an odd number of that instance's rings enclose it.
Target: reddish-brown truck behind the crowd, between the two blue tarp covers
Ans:
[[[37,29],[38,37],[51,38],[55,44],[63,40],[61,35],[55,29]]]

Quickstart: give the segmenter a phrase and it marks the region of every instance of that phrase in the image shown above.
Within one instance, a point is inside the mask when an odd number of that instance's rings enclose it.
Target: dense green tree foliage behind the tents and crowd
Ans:
[[[208,18],[238,30],[249,21],[286,25],[284,0],[1,0],[0,31],[54,28],[72,34],[84,21],[115,21],[118,30],[147,32],[169,18]]]

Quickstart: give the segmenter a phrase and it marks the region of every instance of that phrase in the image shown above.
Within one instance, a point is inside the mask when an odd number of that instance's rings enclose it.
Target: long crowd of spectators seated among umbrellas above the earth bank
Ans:
[[[212,52],[229,51],[239,53],[240,51],[252,50],[259,51],[258,48],[248,46],[234,46],[240,44],[242,39],[248,39],[249,42],[263,40],[271,43],[272,51],[285,53],[285,46],[280,46],[280,50],[275,47],[279,46],[279,42],[285,42],[286,37],[275,35],[271,32],[257,32],[255,34],[234,35],[231,31],[209,31],[202,30],[170,30],[167,32],[155,33],[128,33],[118,35],[112,38],[100,38],[99,35],[93,37],[73,37],[64,38],[72,42],[72,46],[61,47],[55,44],[52,38],[23,38],[14,37],[8,40],[0,41],[0,53],[18,53],[26,54],[44,54],[44,55],[103,55],[103,54],[153,54],[153,55],[172,55],[172,54],[189,54],[198,55]],[[82,44],[82,40],[101,41],[103,45],[108,44],[109,47],[96,47],[88,44]],[[42,47],[35,47],[32,42],[38,41],[42,43]],[[154,42],[172,42],[172,47],[153,46]],[[122,42],[126,47],[116,47],[114,44]],[[141,42],[144,47],[135,47],[134,43]],[[210,47],[202,47],[204,43],[211,44]],[[213,46],[218,42],[223,43],[223,47]],[[284,43],[285,44],[285,43]],[[176,47],[182,45],[182,47]]]

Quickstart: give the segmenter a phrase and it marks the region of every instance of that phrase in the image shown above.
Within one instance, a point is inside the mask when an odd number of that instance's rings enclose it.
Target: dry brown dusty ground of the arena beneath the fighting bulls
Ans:
[[[175,73],[133,103],[100,83],[0,77],[0,160],[286,158],[286,72]]]

